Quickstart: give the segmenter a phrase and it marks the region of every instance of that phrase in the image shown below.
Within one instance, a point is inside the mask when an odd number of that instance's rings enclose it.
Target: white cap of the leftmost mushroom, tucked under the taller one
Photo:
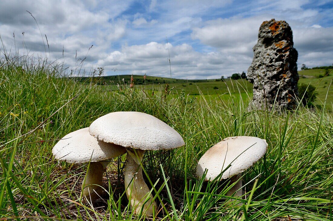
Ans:
[[[53,147],[57,160],[69,163],[98,162],[126,153],[126,148],[97,140],[89,134],[89,127],[64,136]]]

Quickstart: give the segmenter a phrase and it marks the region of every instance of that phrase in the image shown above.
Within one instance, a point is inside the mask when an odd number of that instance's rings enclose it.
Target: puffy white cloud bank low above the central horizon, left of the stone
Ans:
[[[113,51],[99,60],[97,65],[110,70],[117,68],[123,74],[166,77],[169,76],[169,53],[172,76],[176,78],[220,78],[231,71],[228,65],[232,58],[223,58],[220,52],[199,53],[188,44],[173,46],[157,42],[124,46],[121,51]]]

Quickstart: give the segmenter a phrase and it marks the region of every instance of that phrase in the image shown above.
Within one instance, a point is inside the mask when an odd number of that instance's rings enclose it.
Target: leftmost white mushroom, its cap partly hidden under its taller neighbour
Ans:
[[[126,153],[126,149],[97,140],[86,127],[64,136],[53,147],[52,153],[59,161],[78,164],[90,162],[82,182],[82,195],[95,201],[103,192],[103,173],[110,163],[109,159]]]

